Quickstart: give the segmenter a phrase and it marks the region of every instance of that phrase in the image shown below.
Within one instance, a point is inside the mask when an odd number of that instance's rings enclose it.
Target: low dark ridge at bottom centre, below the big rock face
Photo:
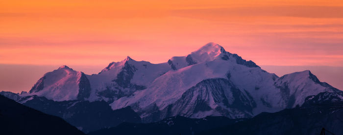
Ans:
[[[91,132],[89,135],[192,135],[208,129],[231,125],[237,121],[239,120],[226,117],[191,119],[174,116],[154,123],[122,123],[116,127]]]

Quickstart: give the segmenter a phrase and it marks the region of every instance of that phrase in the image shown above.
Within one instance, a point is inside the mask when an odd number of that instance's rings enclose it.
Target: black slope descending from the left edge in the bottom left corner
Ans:
[[[1,135],[85,135],[63,119],[0,95]]]

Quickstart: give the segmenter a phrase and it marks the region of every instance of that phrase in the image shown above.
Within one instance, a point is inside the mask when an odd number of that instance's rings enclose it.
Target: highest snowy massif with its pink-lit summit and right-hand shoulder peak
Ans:
[[[173,57],[169,64],[173,70],[146,90],[114,101],[112,108],[132,106],[146,121],[174,115],[242,118],[301,105],[307,96],[322,91],[339,91],[308,70],[279,78],[213,43]]]

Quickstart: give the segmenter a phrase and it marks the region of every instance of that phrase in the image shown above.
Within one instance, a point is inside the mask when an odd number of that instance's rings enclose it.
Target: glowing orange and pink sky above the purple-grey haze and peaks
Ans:
[[[161,63],[215,42],[258,65],[343,67],[342,0],[238,1],[0,0],[0,64]]]

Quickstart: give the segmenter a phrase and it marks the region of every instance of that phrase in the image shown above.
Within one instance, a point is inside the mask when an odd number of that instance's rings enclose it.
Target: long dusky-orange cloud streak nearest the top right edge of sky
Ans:
[[[174,10],[173,15],[212,19],[230,16],[287,16],[302,18],[343,18],[343,6],[251,6]]]

